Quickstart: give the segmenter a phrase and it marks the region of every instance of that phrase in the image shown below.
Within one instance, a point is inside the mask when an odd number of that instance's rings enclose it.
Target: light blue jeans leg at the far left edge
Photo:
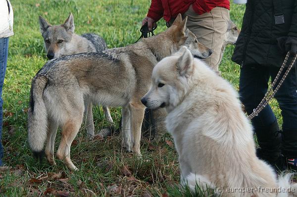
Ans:
[[[0,39],[0,166],[2,165],[3,158],[3,147],[2,147],[2,121],[3,121],[3,113],[2,113],[2,88],[4,82],[4,76],[6,72],[7,65],[7,55],[8,55],[8,38]]]

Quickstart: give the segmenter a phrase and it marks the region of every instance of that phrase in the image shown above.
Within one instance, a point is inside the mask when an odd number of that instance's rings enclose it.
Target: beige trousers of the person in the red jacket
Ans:
[[[191,5],[183,14],[183,18],[186,16],[188,16],[187,28],[196,35],[199,42],[213,51],[204,61],[214,71],[218,71],[222,60],[221,48],[227,23],[230,20],[229,10],[224,7],[215,7],[210,12],[198,15]]]

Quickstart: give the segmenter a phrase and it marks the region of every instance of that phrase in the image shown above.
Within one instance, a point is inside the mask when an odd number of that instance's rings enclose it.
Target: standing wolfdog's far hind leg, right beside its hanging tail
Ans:
[[[52,165],[55,165],[54,161],[54,140],[57,134],[58,124],[51,118],[49,118],[49,126],[48,126],[48,138],[47,145],[45,149],[46,157]]]

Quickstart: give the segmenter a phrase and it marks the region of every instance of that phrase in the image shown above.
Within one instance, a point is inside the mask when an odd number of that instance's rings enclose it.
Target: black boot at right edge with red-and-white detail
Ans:
[[[297,130],[284,129],[282,154],[287,158],[288,170],[297,171]]]

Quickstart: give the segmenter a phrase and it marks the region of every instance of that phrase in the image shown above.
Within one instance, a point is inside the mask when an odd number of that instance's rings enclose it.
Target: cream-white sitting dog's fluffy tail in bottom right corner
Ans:
[[[289,197],[296,196],[297,194],[297,183],[291,183],[292,176],[294,173],[287,173],[281,175],[278,180],[277,197]],[[290,195],[291,194],[291,195]]]

